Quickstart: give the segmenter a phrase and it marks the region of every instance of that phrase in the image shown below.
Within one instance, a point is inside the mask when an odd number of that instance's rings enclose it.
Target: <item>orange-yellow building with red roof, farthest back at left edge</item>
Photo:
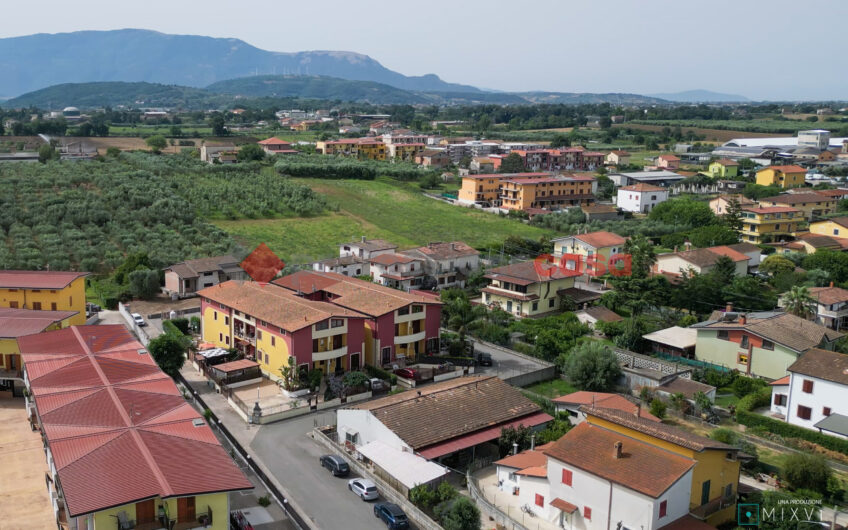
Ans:
[[[0,307],[73,311],[70,325],[85,324],[87,272],[0,271]]]

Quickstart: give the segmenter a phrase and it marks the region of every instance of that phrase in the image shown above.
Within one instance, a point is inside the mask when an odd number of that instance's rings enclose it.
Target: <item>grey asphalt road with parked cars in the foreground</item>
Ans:
[[[363,502],[348,491],[347,481],[356,475],[337,478],[318,464],[326,450],[307,433],[316,424],[331,423],[333,414],[311,414],[263,425],[250,448],[316,527],[322,530],[385,528],[374,517],[374,503]]]

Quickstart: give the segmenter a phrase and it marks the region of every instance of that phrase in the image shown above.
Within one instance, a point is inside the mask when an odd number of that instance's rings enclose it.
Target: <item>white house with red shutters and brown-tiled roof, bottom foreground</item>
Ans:
[[[533,455],[510,471],[509,457],[496,462],[498,478],[511,473],[521,505],[556,526],[656,530],[689,513],[692,459],[589,423],[540,449],[544,468]]]

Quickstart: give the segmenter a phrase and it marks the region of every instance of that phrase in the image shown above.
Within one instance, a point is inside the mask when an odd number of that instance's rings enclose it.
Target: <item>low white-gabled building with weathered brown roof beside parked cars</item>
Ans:
[[[343,406],[336,430],[357,449],[381,442],[428,460],[497,443],[505,427],[540,429],[553,418],[496,376],[465,376]]]

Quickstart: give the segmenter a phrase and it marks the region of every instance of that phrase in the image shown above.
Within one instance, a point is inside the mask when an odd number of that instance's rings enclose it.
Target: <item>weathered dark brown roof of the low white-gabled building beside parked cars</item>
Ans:
[[[349,408],[371,411],[416,451],[540,410],[495,376],[460,377]]]

